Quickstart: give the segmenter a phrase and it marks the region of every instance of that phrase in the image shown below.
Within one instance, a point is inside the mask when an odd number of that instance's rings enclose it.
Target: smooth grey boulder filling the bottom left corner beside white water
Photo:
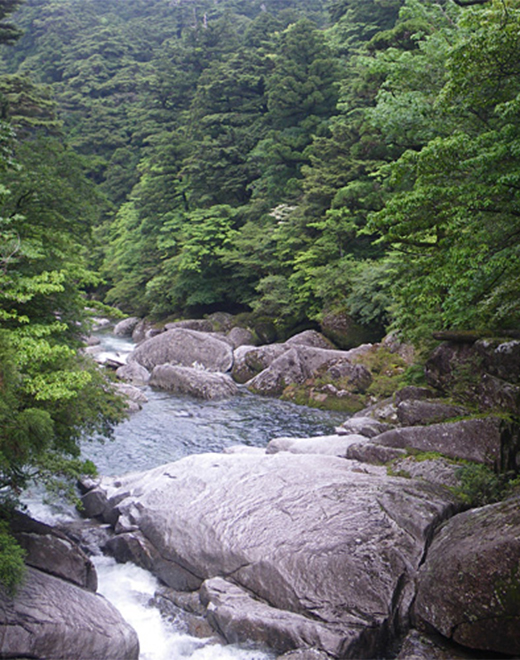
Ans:
[[[0,592],[0,648],[7,658],[139,656],[135,631],[102,596],[31,567],[14,598]]]

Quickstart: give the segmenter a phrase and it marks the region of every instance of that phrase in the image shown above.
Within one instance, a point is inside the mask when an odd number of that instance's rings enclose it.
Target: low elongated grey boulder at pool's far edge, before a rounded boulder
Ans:
[[[238,394],[238,387],[227,374],[171,364],[155,367],[150,385],[168,392],[189,394],[206,400],[224,399]]]

